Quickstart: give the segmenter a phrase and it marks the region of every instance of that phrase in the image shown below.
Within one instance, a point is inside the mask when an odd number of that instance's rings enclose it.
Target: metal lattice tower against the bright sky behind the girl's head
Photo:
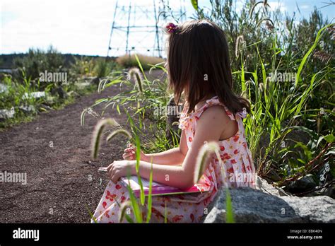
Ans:
[[[186,19],[185,0],[178,1],[177,7],[169,7],[169,1],[152,0],[151,6],[137,5],[139,1],[129,1],[121,5],[116,1],[107,57],[131,54],[131,52],[162,57],[164,35],[162,26],[173,21],[171,11],[180,22]],[[178,9],[176,9],[178,8]]]

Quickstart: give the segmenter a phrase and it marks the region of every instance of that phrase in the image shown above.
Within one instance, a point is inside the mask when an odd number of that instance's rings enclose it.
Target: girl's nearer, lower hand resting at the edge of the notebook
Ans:
[[[132,175],[134,168],[135,163],[132,161],[115,160],[107,167],[107,174],[110,180],[116,184],[120,177],[125,177],[128,174]]]

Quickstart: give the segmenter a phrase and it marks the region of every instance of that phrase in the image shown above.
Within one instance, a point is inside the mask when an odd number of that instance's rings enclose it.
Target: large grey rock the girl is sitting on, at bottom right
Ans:
[[[257,189],[230,189],[237,223],[335,223],[335,200],[293,197],[257,177]],[[225,223],[225,189],[213,201],[204,223]]]

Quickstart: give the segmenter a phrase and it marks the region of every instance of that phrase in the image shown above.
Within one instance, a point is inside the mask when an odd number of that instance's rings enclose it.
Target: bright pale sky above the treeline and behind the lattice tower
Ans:
[[[132,9],[129,23],[137,26],[130,30],[129,49],[134,47],[132,52],[157,54],[153,50],[155,28],[138,28],[155,24],[153,1],[118,1],[115,26],[119,29],[114,29],[112,33],[109,55],[125,53],[127,28],[124,27],[127,26],[129,4]],[[329,1],[331,0],[270,0],[269,4],[271,9],[279,8],[289,15],[295,12],[298,19],[308,18],[316,6],[324,17],[334,22],[335,5],[322,8]],[[64,54],[106,56],[116,2],[117,0],[1,0],[0,54],[25,53],[30,47],[47,49],[52,45]],[[237,11],[244,2],[235,0]],[[157,9],[159,0],[155,0],[155,4]],[[186,19],[194,14],[190,0],[170,0],[168,4],[176,16],[181,5],[187,13]],[[199,0],[199,6],[210,6],[209,0]],[[167,18],[169,20],[172,18]],[[162,26],[163,23],[160,22],[159,25]],[[162,43],[160,42],[160,46]]]

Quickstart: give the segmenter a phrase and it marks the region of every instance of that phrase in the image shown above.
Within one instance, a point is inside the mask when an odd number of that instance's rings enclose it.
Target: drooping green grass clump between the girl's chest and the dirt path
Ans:
[[[136,119],[138,134],[141,135],[143,131],[147,133],[149,131],[149,134],[147,134],[148,142],[142,146],[148,153],[165,151],[179,146],[179,132],[172,131],[172,141],[170,141],[165,134],[166,129],[169,127],[166,122],[166,112],[162,115],[155,113],[158,111],[158,108],[167,106],[167,102],[172,95],[172,93],[167,90],[166,78],[149,79],[146,76],[140,58],[137,57],[137,55],[134,55],[134,57],[137,62],[137,68],[131,68],[126,73],[115,71],[100,81],[98,86],[99,92],[110,86],[119,86],[122,88],[122,91],[110,98],[101,98],[97,100],[94,105],[83,110],[81,114],[82,124],[88,110],[92,112],[94,111],[94,107],[100,104],[104,104],[102,115],[108,107],[114,108],[119,114],[121,114],[122,109],[127,109],[127,111],[131,113],[131,118]],[[166,72],[166,69],[161,66],[161,64],[155,64],[151,68]],[[149,123],[147,125],[147,119],[149,119],[150,122],[155,122],[155,124]],[[165,129],[164,132],[162,129]]]

